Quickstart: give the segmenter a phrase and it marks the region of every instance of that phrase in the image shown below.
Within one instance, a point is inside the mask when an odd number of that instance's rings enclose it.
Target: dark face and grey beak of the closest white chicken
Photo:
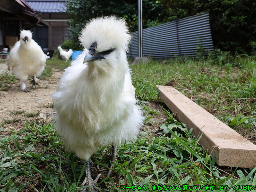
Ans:
[[[115,51],[115,48],[107,48],[105,51],[97,51],[97,42],[92,43],[92,45],[89,48],[89,52],[84,57],[84,63],[96,61],[96,60],[103,60],[106,59],[106,57],[109,56],[113,51]]]

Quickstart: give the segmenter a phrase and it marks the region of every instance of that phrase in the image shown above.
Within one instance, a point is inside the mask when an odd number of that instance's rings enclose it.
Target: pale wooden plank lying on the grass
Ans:
[[[193,129],[196,137],[203,133],[199,143],[208,153],[213,150],[218,165],[237,167],[242,161],[239,167],[256,167],[256,145],[173,87],[157,87],[160,98],[178,119]]]

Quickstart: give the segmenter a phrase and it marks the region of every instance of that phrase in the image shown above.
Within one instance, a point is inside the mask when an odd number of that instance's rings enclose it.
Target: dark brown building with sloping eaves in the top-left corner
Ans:
[[[19,40],[20,30],[46,23],[25,0],[0,0],[0,52]]]

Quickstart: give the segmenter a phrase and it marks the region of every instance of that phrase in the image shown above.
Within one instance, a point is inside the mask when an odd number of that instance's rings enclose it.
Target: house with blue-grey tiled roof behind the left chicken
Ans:
[[[55,50],[68,39],[67,0],[26,0],[48,25],[31,28],[36,42],[46,51]]]

